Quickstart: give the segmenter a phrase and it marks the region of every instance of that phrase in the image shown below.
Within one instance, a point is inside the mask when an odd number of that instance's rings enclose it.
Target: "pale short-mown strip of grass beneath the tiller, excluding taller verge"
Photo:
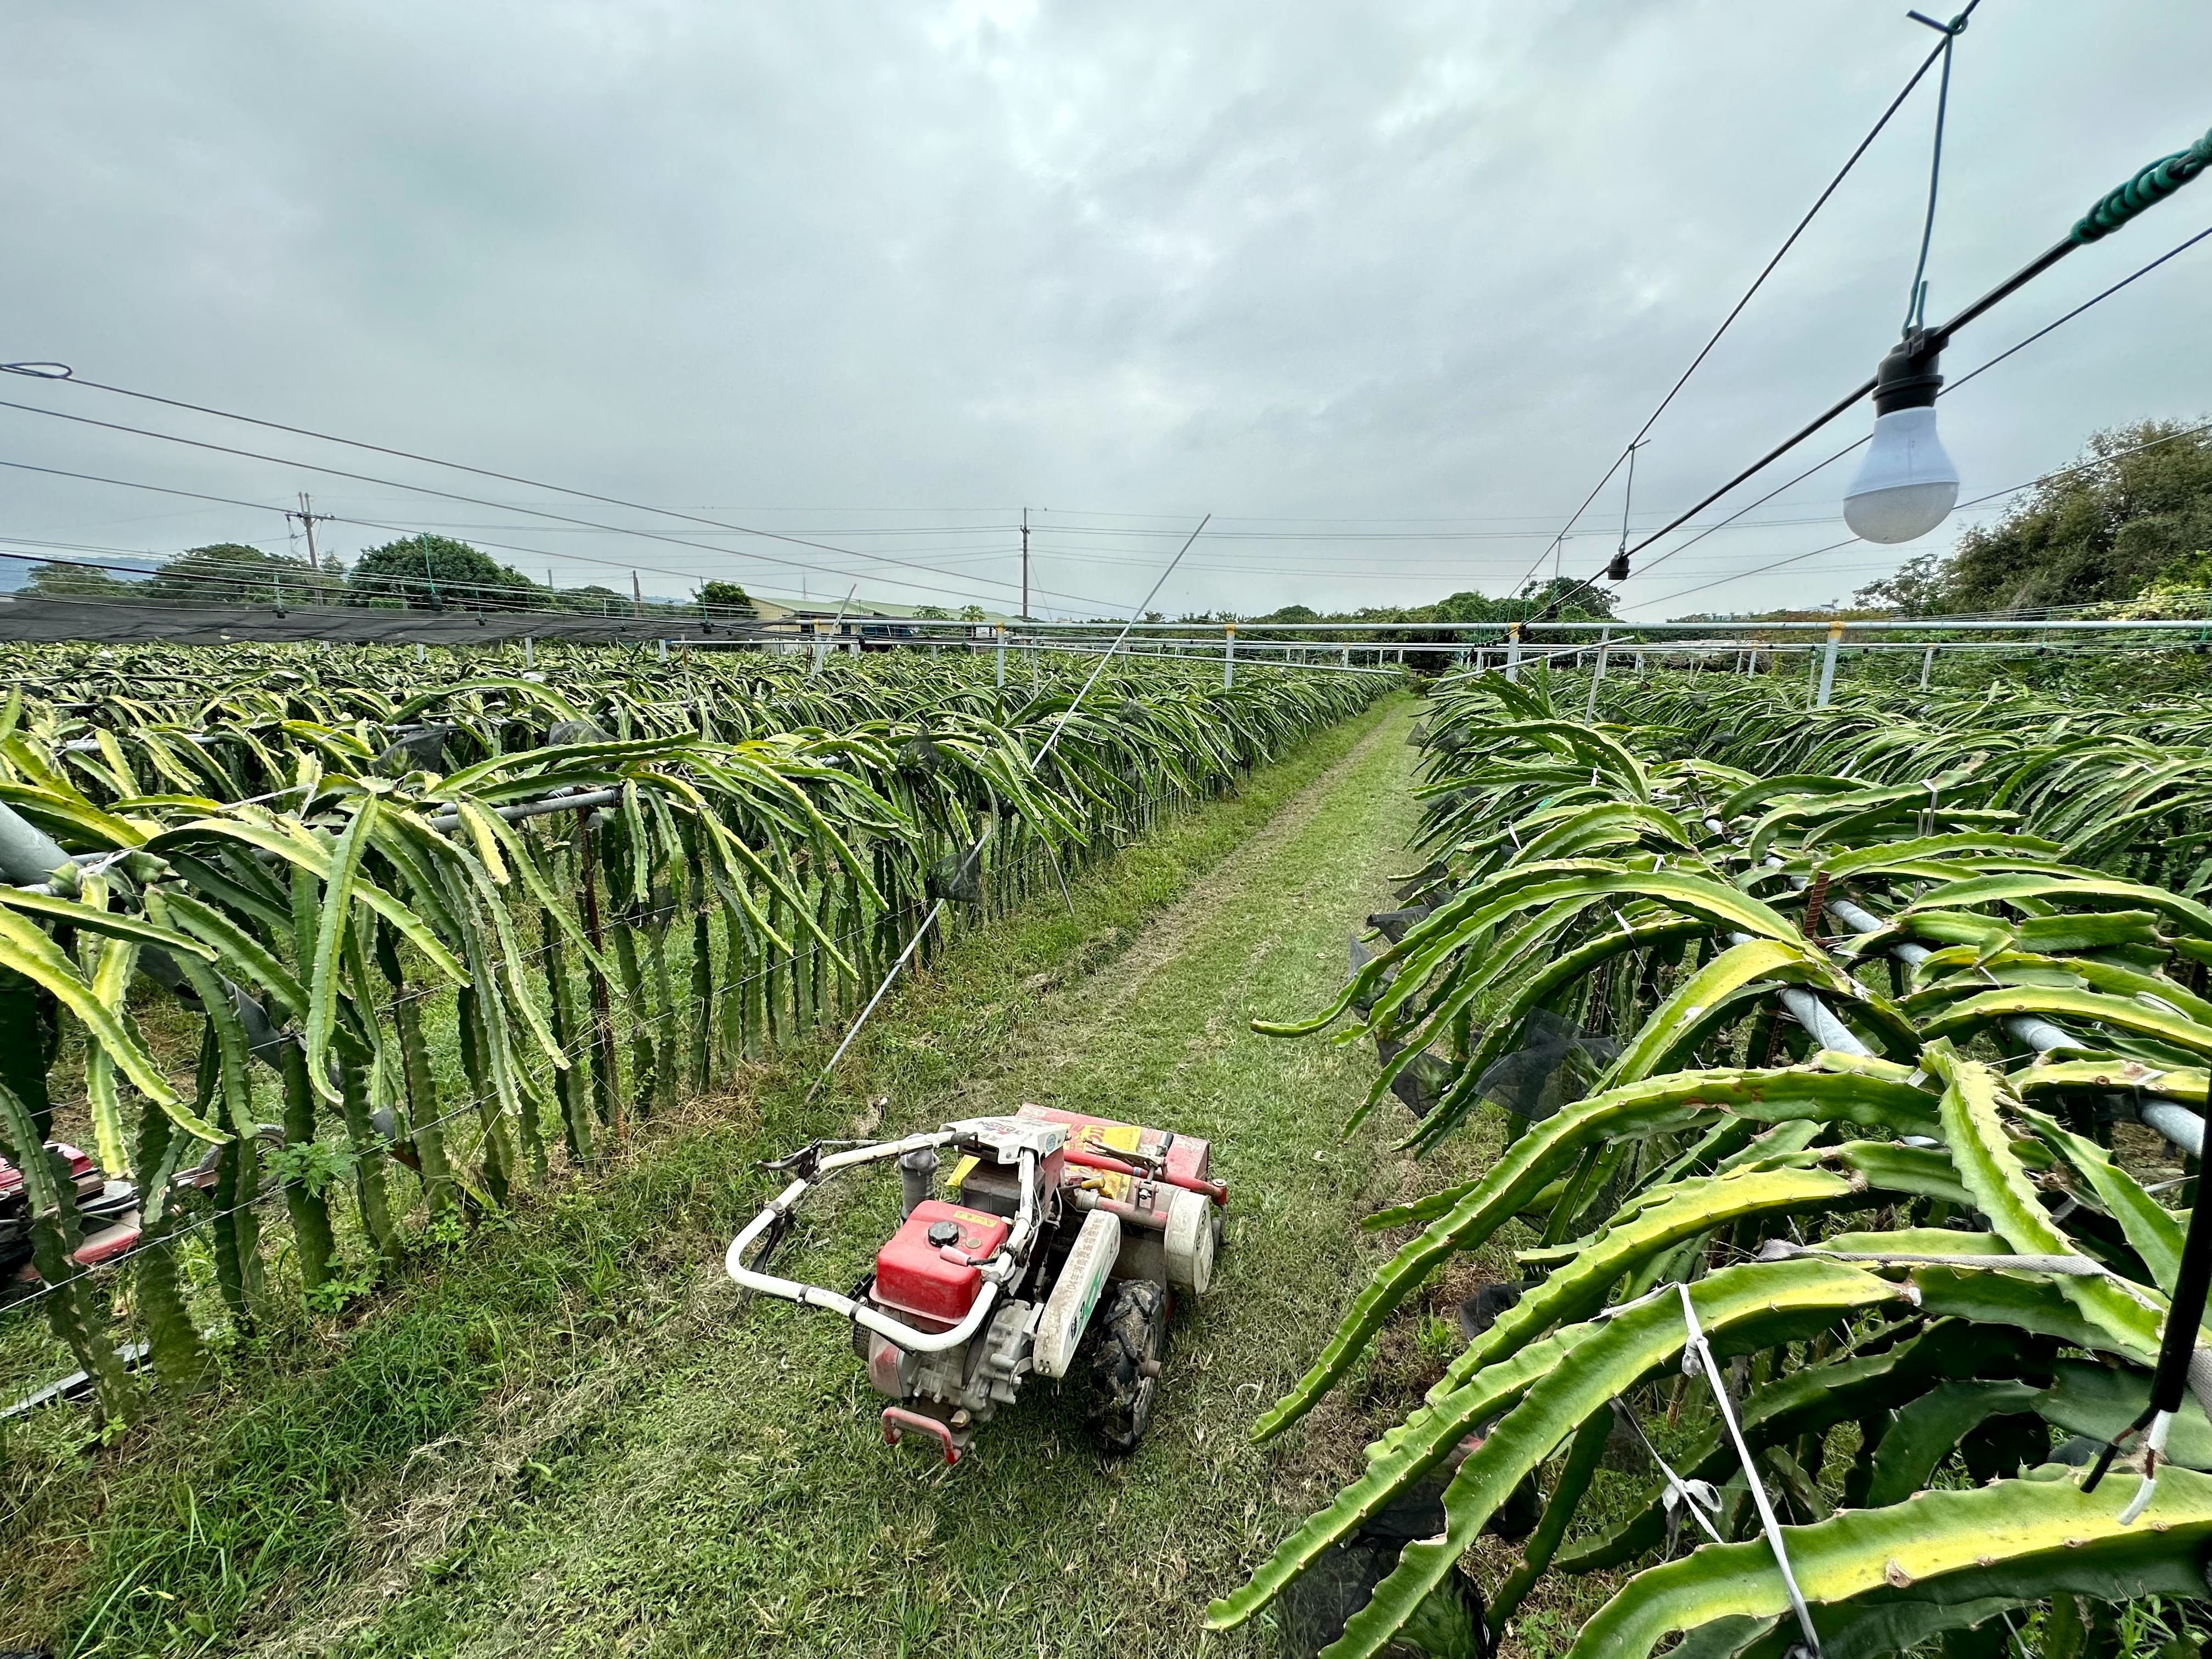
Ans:
[[[1048,991],[989,1082],[953,1075],[894,1099],[898,1126],[1026,1097],[1214,1139],[1230,1241],[1217,1290],[1177,1318],[1135,1458],[1104,1464],[1079,1391],[1035,1380],[958,1471],[889,1451],[843,1325],[739,1307],[706,1274],[675,1336],[648,1343],[650,1365],[606,1389],[591,1429],[531,1451],[542,1478],[385,1577],[369,1604],[336,1597],[265,1652],[1199,1650],[1206,1599],[1303,1502],[1279,1495],[1301,1438],[1254,1449],[1245,1429],[1365,1276],[1374,1248],[1354,1223],[1378,1181],[1396,1181],[1380,1126],[1338,1144],[1371,1057],[1248,1022],[1332,995],[1349,920],[1405,867],[1405,726],[1394,710],[1119,958]],[[865,1267],[896,1225],[896,1190],[849,1192],[792,1270],[843,1285]],[[1243,1632],[1206,1650],[1263,1644]]]

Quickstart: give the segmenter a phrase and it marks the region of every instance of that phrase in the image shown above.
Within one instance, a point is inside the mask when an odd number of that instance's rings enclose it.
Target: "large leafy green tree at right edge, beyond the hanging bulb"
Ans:
[[[2188,425],[2139,420],[2090,436],[2086,465],[1958,540],[1942,566],[1942,608],[2128,599],[2212,546],[2212,434]]]

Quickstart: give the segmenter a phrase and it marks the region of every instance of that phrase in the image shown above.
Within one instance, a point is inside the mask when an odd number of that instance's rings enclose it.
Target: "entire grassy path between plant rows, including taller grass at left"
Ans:
[[[456,1259],[303,1378],[296,1416],[279,1398],[243,1438],[157,1433],[102,1493],[100,1522],[86,1517],[100,1542],[75,1606],[106,1597],[95,1635],[115,1652],[1197,1652],[1206,1599],[1365,1438],[1325,1409],[1265,1453],[1245,1440],[1371,1261],[1352,1223],[1402,1177],[1380,1135],[1336,1139],[1371,1057],[1248,1022],[1334,993],[1347,918],[1387,902],[1413,821],[1407,719],[1398,703],[1327,734],[1243,801],[1093,872],[1073,918],[967,938],[845,1079],[869,1102],[849,1133],[1037,1099],[1214,1139],[1230,1239],[1128,1462],[1102,1464],[1075,1389],[1046,1383],[958,1471],[889,1451],[843,1325],[739,1305],[719,1248],[763,1190],[745,1166],[803,1139],[799,1091],[763,1077],[752,1121],[701,1104],[695,1133],[626,1177]],[[896,1183],[843,1188],[807,1214],[812,1234],[779,1261],[852,1283],[896,1221]],[[482,1380],[447,1402],[456,1367]],[[396,1374],[420,1374],[422,1398]],[[332,1400],[347,1380],[363,1398]],[[378,1438],[369,1413],[392,1411],[409,1422]],[[188,1495],[164,1458],[192,1471]],[[296,1535],[248,1559],[263,1511],[316,1482],[321,1498],[274,1522]],[[55,1506],[49,1535],[66,1524]],[[142,1555],[153,1566],[133,1579],[124,1564]],[[208,1648],[192,1639],[204,1619],[219,1630]],[[82,1613],[69,1624],[84,1630]]]

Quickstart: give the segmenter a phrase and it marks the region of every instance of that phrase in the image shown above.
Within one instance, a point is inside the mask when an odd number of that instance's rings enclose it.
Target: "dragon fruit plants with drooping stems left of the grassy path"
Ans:
[[[9,653],[0,1267],[106,1418],[1385,684],[535,657]]]

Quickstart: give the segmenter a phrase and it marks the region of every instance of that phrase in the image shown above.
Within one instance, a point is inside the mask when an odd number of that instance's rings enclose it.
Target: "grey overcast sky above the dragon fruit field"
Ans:
[[[1040,613],[1133,606],[1201,513],[1170,613],[1513,591],[1931,44],[1865,0],[13,0],[0,358],[836,551],[15,376],[0,398],[389,482],[0,409],[0,460],[261,504],[0,471],[0,546],[285,546],[305,489],[345,555],[438,529],[564,586],[1011,611],[1026,504]],[[2203,133],[2205,64],[2201,2],[1986,0],[1929,314]],[[1661,418],[1639,524],[1896,338],[1933,91]],[[2212,184],[1947,372],[2205,223]],[[1964,495],[2212,411],[2208,274],[2212,241],[1947,398]],[[1843,599],[1918,551],[1721,582],[1843,540],[1847,480],[1639,566],[1630,613]],[[1604,564],[1619,484],[1562,568]]]

